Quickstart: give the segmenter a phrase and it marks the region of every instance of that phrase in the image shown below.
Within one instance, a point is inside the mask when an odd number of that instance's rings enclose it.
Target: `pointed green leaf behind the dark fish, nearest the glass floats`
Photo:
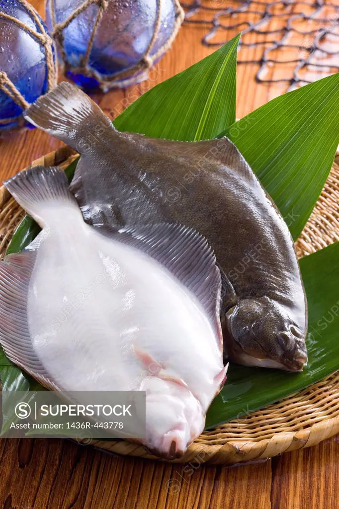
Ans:
[[[120,131],[195,141],[235,122],[240,34],[197,64],[149,90],[114,121]]]

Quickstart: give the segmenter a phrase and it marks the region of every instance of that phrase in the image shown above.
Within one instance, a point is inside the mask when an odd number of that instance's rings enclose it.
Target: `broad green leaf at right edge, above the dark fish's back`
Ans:
[[[224,134],[256,172],[297,239],[339,144],[339,73],[273,99]]]

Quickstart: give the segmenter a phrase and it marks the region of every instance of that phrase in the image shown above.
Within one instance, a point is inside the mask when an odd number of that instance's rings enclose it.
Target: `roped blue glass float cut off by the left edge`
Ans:
[[[0,0],[0,130],[22,126],[23,109],[56,83],[47,27],[24,0]]]

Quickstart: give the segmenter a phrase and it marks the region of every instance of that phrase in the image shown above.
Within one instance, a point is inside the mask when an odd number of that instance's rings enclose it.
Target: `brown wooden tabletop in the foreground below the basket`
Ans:
[[[337,509],[337,439],[235,467],[122,459],[55,439],[0,441],[4,509]]]

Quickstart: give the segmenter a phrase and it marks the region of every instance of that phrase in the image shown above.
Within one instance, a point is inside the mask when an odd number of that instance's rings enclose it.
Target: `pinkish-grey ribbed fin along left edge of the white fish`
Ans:
[[[27,251],[9,254],[0,262],[0,343],[12,362],[55,389],[34,350],[28,326],[27,298],[35,261],[36,252]]]

